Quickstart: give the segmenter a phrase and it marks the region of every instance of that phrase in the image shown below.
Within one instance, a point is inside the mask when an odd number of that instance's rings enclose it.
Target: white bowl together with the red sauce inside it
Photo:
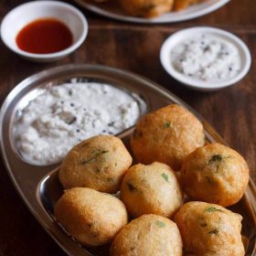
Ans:
[[[18,5],[1,24],[5,46],[37,62],[67,57],[84,42],[88,23],[72,5],[58,1],[35,1]]]

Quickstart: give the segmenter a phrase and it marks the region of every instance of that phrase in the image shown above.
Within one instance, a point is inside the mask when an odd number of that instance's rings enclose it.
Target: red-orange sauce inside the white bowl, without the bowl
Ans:
[[[69,27],[55,18],[40,18],[23,27],[16,36],[18,48],[47,54],[69,48],[73,37]]]

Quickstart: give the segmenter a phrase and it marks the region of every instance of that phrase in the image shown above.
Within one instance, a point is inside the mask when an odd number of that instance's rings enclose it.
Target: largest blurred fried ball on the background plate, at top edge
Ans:
[[[155,17],[171,11],[174,0],[121,0],[123,10],[132,16]]]

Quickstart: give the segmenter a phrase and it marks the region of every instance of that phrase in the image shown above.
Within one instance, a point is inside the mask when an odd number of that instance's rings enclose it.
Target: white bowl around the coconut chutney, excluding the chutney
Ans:
[[[171,62],[171,51],[178,44],[185,42],[188,38],[197,37],[197,35],[211,35],[214,37],[219,37],[221,40],[228,41],[233,46],[239,50],[240,59],[241,59],[241,69],[240,72],[229,80],[221,81],[204,81],[188,77],[185,74],[182,74],[175,69]],[[197,90],[197,91],[216,91],[225,87],[228,87],[232,84],[237,83],[241,80],[249,71],[251,67],[251,54],[249,48],[244,44],[244,42],[233,34],[215,27],[192,27],[180,30],[168,37],[162,48],[160,50],[160,60],[165,71],[171,75],[176,80],[183,83],[188,88]]]

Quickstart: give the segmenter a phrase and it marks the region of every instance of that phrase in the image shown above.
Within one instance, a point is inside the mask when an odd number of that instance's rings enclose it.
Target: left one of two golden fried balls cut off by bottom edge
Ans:
[[[133,219],[112,241],[111,256],[181,256],[182,240],[176,223],[149,214]]]

